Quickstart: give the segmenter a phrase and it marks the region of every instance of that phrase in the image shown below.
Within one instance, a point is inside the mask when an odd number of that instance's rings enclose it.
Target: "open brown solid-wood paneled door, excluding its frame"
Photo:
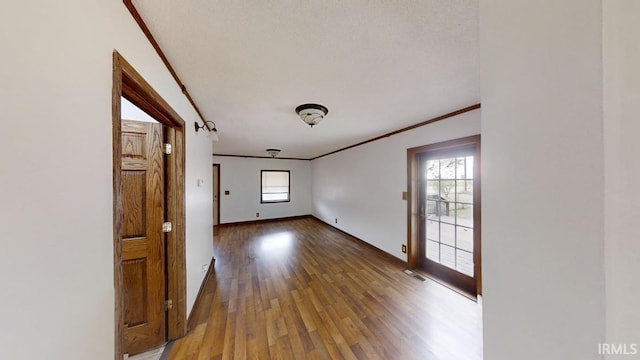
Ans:
[[[166,340],[162,144],[161,124],[122,120],[124,351],[130,355]]]

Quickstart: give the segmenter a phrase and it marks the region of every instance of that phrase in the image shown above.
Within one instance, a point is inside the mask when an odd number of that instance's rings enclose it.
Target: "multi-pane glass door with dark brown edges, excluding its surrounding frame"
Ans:
[[[479,144],[418,156],[419,265],[476,296],[480,276]]]

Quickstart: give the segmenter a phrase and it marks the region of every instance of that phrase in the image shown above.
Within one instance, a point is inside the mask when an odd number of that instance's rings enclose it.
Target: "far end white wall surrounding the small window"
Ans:
[[[311,214],[309,161],[230,156],[214,156],[213,160],[220,164],[221,224]],[[260,170],[291,171],[290,202],[260,203]],[[224,194],[225,190],[229,195]]]

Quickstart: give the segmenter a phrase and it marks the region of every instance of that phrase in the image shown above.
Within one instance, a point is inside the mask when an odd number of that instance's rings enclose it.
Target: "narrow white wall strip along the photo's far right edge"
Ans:
[[[640,345],[640,2],[603,10],[607,342]]]

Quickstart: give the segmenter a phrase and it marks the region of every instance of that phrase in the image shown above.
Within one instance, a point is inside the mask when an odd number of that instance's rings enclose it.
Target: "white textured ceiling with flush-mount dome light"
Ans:
[[[136,0],[216,154],[312,158],[480,102],[476,0]],[[329,108],[310,128],[296,106]]]

